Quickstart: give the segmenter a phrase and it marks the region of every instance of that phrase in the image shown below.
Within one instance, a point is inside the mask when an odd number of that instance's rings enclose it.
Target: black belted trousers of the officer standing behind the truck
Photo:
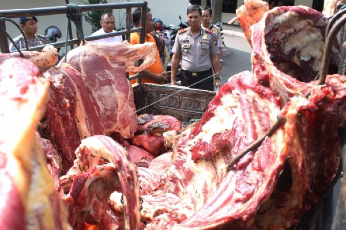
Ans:
[[[192,84],[199,82],[197,84],[194,84],[190,88],[214,91],[214,80],[212,75],[213,71],[211,68],[209,70],[201,72],[189,72],[186,70],[181,70],[181,85],[189,87]]]

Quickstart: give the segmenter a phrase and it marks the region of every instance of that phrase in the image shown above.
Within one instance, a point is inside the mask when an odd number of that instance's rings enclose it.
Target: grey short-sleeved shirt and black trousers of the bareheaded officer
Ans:
[[[178,31],[172,52],[181,55],[182,86],[191,86],[200,81],[191,88],[214,90],[211,56],[219,54],[220,50],[213,33],[202,26],[196,37],[190,27]]]

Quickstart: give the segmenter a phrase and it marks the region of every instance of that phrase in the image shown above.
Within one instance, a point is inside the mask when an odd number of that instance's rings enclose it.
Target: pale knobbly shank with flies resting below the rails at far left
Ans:
[[[38,51],[21,51],[26,59],[34,62],[34,64],[41,70],[45,71],[50,67],[55,66],[58,61],[57,49],[51,45],[45,46],[42,52]],[[20,54],[18,52],[13,53],[0,53],[0,63],[9,58],[18,58]]]

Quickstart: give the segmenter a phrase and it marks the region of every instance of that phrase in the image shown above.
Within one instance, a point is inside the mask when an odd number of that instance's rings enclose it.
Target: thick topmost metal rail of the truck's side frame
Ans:
[[[104,3],[104,4],[88,4],[78,5],[81,12],[94,11],[94,10],[108,10],[108,9],[123,9],[127,7],[143,7],[147,6],[146,2],[121,2],[121,3]],[[28,16],[44,16],[53,14],[68,13],[67,6],[61,7],[42,7],[42,8],[29,8],[29,9],[15,9],[15,10],[0,10],[0,17],[18,18]]]

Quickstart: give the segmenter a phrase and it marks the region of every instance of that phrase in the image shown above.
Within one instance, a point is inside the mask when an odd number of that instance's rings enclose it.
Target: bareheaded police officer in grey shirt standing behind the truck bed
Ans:
[[[201,26],[202,10],[190,5],[187,10],[189,28],[178,32],[172,49],[171,82],[176,84],[176,72],[181,60],[181,84],[195,89],[213,91],[213,72],[220,69],[218,40],[213,31]],[[215,73],[216,85],[221,85],[219,72]]]

